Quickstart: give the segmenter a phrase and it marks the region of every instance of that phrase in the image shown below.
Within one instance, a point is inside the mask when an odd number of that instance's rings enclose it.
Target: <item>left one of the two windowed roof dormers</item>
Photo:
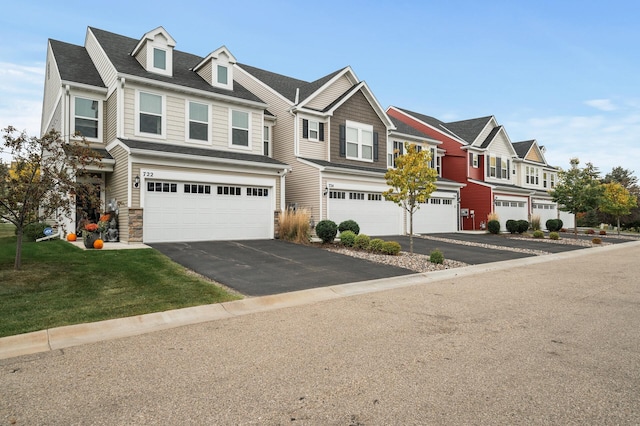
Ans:
[[[176,41],[162,27],[146,33],[131,52],[149,72],[173,77],[173,48]]]

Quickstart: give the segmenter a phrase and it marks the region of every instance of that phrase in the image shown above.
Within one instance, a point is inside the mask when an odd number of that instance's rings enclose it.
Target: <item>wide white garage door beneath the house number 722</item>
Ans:
[[[271,188],[147,181],[143,241],[273,238]]]

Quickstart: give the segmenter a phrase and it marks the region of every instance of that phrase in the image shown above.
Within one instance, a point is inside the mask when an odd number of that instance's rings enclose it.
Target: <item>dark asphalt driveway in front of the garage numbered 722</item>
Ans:
[[[282,240],[158,243],[151,246],[174,262],[247,296],[415,273]]]

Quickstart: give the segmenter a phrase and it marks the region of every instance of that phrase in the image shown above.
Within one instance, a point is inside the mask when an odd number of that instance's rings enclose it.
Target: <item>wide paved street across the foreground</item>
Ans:
[[[0,422],[638,424],[639,258],[577,250],[6,359]]]

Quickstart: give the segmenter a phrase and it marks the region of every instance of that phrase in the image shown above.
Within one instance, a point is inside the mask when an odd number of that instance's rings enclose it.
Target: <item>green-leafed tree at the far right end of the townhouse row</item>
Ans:
[[[558,183],[549,191],[553,201],[557,202],[559,209],[572,213],[574,216],[574,234],[578,236],[579,213],[586,213],[598,206],[602,188],[599,181],[599,172],[591,163],[580,168],[580,160],[572,158],[569,170],[558,172]]]

